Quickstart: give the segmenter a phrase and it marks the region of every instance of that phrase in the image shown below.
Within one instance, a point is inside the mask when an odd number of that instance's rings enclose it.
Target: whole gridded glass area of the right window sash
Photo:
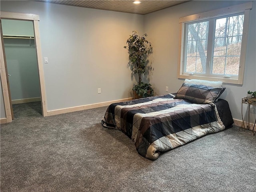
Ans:
[[[243,18],[243,15],[238,15],[216,19],[212,63],[213,74],[238,75]]]

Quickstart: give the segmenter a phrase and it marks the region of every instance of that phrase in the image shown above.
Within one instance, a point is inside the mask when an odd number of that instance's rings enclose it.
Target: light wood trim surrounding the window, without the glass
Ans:
[[[245,59],[246,59],[246,48],[247,48],[247,39],[248,39],[248,30],[249,30],[249,17],[250,17],[250,9],[252,9],[252,2],[240,4],[236,6],[230,6],[218,10],[212,10],[209,12],[204,12],[201,14],[194,14],[186,17],[180,18],[180,40],[179,40],[179,58],[178,58],[178,78],[182,79],[200,79],[200,80],[210,80],[210,81],[222,81],[224,83],[230,84],[243,84],[244,80],[244,67],[245,67]],[[243,34],[242,34],[242,45],[241,45],[241,54],[240,54],[240,66],[238,71],[238,78],[232,78],[229,76],[200,76],[200,74],[186,73],[184,72],[184,40],[186,39],[186,31],[185,25],[187,22],[200,21],[205,20],[206,18],[218,17],[226,14],[244,12],[244,26],[243,26]],[[206,65],[209,66],[209,63]],[[209,69],[209,68],[208,68]],[[206,69],[207,70],[207,69]]]

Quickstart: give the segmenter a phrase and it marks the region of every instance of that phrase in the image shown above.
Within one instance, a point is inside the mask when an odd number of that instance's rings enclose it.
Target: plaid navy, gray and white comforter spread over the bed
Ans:
[[[171,94],[111,104],[102,125],[124,132],[138,153],[152,160],[160,152],[225,129],[216,105],[173,99]]]

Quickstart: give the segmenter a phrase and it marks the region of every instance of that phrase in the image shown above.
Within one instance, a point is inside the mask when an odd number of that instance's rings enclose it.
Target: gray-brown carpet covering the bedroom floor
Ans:
[[[1,125],[1,192],[254,192],[256,136],[238,127],[204,136],[155,161],[100,124],[107,107],[42,117],[14,105]]]

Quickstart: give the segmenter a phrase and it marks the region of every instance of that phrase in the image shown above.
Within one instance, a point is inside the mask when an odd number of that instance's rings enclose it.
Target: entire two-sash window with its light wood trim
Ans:
[[[180,18],[178,78],[242,84],[252,3]]]

